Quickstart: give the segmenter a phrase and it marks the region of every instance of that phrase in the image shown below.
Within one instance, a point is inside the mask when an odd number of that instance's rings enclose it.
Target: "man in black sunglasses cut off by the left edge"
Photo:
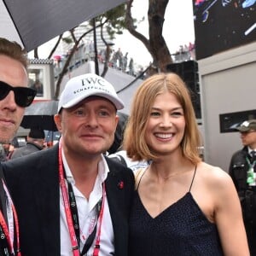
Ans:
[[[27,88],[27,58],[20,45],[0,38],[0,143],[10,143],[25,108],[36,96]],[[0,168],[0,255],[20,256],[19,223]]]

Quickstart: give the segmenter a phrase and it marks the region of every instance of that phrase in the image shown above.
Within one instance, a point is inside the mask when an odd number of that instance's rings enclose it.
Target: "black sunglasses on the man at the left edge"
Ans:
[[[14,91],[15,102],[21,108],[28,107],[37,95],[37,90],[33,90],[32,88],[13,87],[3,81],[0,81],[0,101],[8,96],[10,90]]]

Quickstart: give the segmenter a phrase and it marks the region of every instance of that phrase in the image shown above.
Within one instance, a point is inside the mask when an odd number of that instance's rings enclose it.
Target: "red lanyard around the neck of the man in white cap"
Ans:
[[[71,246],[72,246],[72,250],[73,250],[73,256],[79,256],[80,255],[79,244],[78,244],[78,240],[76,238],[76,234],[75,234],[75,230],[74,230],[74,226],[73,226],[73,218],[72,218],[72,213],[70,210],[70,204],[69,204],[68,194],[67,194],[67,186],[65,183],[64,170],[63,170],[63,165],[62,165],[61,140],[59,143],[59,177],[60,177],[61,193],[62,193],[64,208],[65,208],[65,213],[66,213],[66,218],[67,218],[67,226],[68,226],[69,236],[70,236],[70,240],[71,240]],[[98,227],[98,231],[96,234],[96,245],[95,245],[95,248],[93,251],[93,256],[98,256],[99,252],[100,252],[102,218],[103,218],[105,197],[106,197],[106,189],[105,189],[105,183],[103,183],[102,207],[101,207],[101,211],[100,211],[99,218],[98,218],[99,227]]]

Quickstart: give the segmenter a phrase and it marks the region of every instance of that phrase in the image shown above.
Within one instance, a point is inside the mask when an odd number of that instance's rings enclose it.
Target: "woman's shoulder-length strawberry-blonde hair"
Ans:
[[[145,140],[148,118],[156,96],[169,91],[177,97],[184,112],[185,131],[181,148],[183,155],[194,164],[201,161],[199,148],[201,137],[189,90],[175,73],[159,73],[146,79],[139,86],[131,104],[131,115],[125,128],[123,146],[133,160],[157,160]]]

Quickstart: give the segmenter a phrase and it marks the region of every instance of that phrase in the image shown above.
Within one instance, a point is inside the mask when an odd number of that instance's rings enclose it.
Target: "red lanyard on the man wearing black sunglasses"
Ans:
[[[3,180],[2,180],[3,181]],[[14,216],[14,220],[15,220],[15,230],[16,230],[16,241],[17,241],[17,256],[21,256],[21,253],[20,253],[20,230],[19,230],[19,223],[18,223],[18,217],[17,217],[17,212],[15,210],[15,205],[9,195],[9,191],[5,185],[5,183],[3,182],[3,189],[7,195],[7,199],[9,201],[9,204],[11,206],[11,210],[13,211],[13,216]],[[5,219],[3,218],[3,213],[0,211],[0,224],[1,224],[1,227],[3,229],[3,233],[6,237],[6,240],[8,242],[8,246],[9,246],[9,251],[10,253],[15,253],[15,249],[14,249],[14,238],[11,239],[11,236],[10,236],[10,231],[8,229],[8,226],[5,222]],[[12,231],[12,234],[14,236],[14,232]]]

